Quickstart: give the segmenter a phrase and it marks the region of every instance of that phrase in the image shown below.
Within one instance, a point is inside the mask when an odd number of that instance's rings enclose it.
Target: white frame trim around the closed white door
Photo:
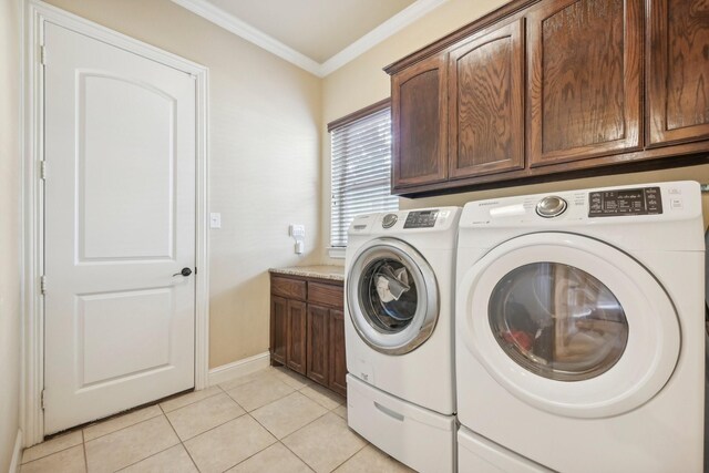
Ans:
[[[43,275],[43,23],[63,28],[191,74],[196,83],[196,269],[195,269],[195,390],[208,384],[209,258],[207,234],[207,97],[208,69],[88,21],[39,0],[23,1],[22,43],[22,385],[20,428],[24,446],[44,438]]]

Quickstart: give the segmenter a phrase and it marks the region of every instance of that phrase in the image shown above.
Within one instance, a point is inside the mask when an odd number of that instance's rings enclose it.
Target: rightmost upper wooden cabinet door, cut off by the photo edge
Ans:
[[[709,1],[651,0],[649,145],[709,138]]]

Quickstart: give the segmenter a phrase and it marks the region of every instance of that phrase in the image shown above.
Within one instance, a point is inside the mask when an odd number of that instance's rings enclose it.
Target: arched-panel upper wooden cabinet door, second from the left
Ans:
[[[449,59],[449,174],[524,167],[524,20],[455,50]]]

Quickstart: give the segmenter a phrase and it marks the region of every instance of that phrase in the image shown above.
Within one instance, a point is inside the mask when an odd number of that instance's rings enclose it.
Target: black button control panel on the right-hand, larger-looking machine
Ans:
[[[623,188],[588,193],[589,217],[655,215],[662,213],[659,187]]]

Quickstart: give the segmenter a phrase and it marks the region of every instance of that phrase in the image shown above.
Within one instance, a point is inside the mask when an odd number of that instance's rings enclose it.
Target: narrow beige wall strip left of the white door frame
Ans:
[[[0,471],[20,414],[20,2],[0,0]]]

